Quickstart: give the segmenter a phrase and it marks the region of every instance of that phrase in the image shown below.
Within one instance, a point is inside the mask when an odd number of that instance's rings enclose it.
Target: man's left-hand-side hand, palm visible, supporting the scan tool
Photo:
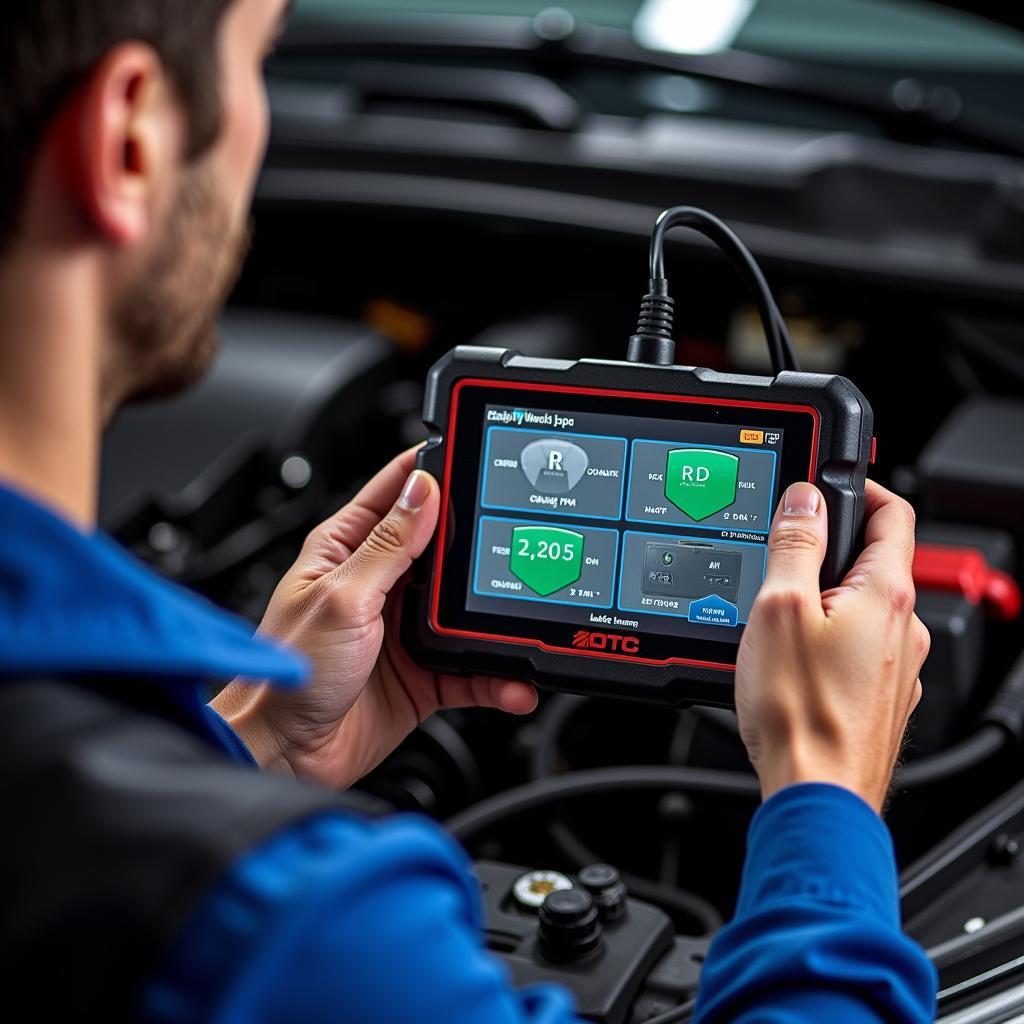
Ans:
[[[309,658],[309,687],[237,680],[213,701],[265,768],[344,787],[439,708],[524,715],[537,705],[525,683],[426,672],[401,648],[398,585],[439,505],[436,481],[415,464],[415,451],[399,456],[316,527],[270,601],[260,632]]]

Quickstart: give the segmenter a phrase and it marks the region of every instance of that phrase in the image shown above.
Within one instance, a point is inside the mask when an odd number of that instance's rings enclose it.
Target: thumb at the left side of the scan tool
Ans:
[[[345,588],[362,599],[365,611],[378,614],[391,589],[423,554],[437,525],[438,505],[437,481],[416,470],[391,511],[336,570]]]

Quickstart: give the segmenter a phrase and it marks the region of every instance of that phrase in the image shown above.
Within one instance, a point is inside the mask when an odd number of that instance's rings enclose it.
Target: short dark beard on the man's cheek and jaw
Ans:
[[[219,348],[217,322],[248,255],[252,228],[233,228],[213,175],[197,168],[165,233],[114,314],[109,406],[167,398],[198,384]]]

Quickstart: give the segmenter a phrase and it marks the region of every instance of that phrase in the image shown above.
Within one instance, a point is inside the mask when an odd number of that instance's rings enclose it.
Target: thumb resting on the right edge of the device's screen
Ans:
[[[828,513],[813,483],[794,483],[782,496],[768,538],[765,590],[818,592],[828,541]]]

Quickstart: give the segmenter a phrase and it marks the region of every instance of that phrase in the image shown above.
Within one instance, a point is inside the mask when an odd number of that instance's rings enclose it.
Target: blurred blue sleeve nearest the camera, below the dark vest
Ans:
[[[331,815],[230,870],[142,999],[145,1024],[577,1024],[482,945],[466,855],[425,819]]]

